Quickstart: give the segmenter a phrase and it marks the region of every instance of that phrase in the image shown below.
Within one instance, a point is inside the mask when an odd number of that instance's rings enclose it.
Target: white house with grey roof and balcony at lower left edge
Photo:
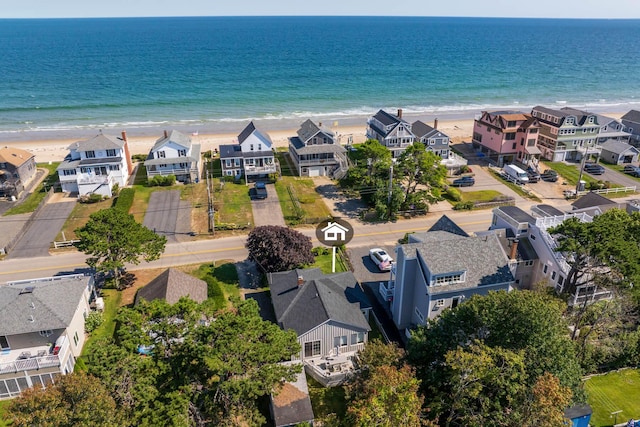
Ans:
[[[0,286],[0,399],[73,372],[92,295],[93,278],[82,274]]]

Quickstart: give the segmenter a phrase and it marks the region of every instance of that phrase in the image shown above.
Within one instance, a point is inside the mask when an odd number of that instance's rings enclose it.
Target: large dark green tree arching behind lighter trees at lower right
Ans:
[[[531,291],[490,292],[473,296],[455,310],[446,310],[428,326],[418,327],[407,348],[407,358],[422,381],[425,405],[431,416],[442,417],[454,404],[451,396],[450,352],[467,351],[474,343],[523,355],[525,376],[515,376],[512,387],[524,381],[530,388],[545,373],[556,376],[576,399],[583,399],[582,371],[576,359],[565,304]]]

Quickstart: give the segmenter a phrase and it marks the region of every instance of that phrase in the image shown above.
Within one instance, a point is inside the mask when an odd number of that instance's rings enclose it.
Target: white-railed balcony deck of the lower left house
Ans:
[[[41,345],[10,350],[0,356],[0,374],[56,368],[62,366],[69,353],[69,340],[64,336],[59,348],[55,345]],[[56,353],[56,354],[54,354]]]

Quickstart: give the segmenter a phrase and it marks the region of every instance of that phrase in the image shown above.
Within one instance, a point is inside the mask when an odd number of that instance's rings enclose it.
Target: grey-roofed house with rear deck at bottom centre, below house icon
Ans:
[[[367,343],[371,304],[353,273],[323,274],[319,268],[268,275],[278,325],[293,329],[299,360],[324,385],[343,381],[352,357]]]

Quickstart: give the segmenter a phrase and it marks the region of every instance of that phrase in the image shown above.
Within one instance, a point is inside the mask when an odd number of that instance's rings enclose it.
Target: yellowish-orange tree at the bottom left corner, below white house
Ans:
[[[110,427],[125,422],[102,382],[83,372],[62,375],[46,389],[24,391],[11,402],[8,418],[15,427]]]

